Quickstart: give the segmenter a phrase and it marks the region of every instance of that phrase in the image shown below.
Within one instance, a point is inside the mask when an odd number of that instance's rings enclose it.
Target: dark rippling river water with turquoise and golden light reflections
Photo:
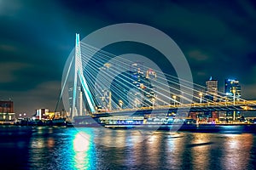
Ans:
[[[253,133],[0,127],[0,169],[256,169]]]

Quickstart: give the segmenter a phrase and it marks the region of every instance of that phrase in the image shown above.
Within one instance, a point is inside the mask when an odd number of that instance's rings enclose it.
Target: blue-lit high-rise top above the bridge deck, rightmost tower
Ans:
[[[236,99],[239,99],[241,97],[239,81],[236,79],[225,79],[225,94],[227,97],[233,97],[235,94]]]

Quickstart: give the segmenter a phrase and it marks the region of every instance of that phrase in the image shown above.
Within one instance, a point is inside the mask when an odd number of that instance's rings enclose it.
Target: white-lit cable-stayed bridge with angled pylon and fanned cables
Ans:
[[[79,40],[67,59],[61,97],[70,117],[131,116],[205,111],[255,111],[256,101],[205,87],[148,62],[110,54]],[[235,117],[234,117],[235,119]]]

